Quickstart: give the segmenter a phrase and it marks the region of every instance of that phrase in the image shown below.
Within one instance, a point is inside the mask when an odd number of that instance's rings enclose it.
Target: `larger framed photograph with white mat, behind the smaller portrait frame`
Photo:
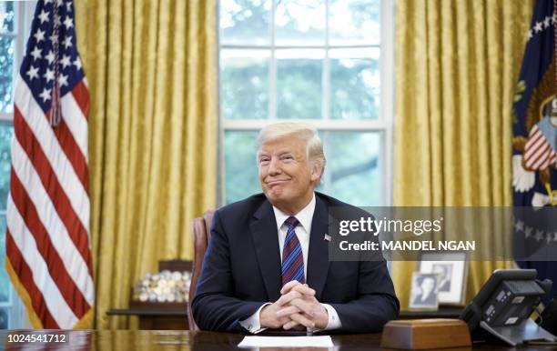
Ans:
[[[439,276],[439,304],[464,306],[468,277],[466,253],[426,253],[420,258],[418,272]]]

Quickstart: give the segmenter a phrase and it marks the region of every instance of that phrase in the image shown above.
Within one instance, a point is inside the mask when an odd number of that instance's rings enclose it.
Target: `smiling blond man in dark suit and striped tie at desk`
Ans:
[[[349,205],[314,191],[324,166],[310,125],[261,130],[263,194],[224,206],[213,217],[192,302],[201,329],[364,333],[380,331],[398,316],[385,261],[329,261],[329,207]]]

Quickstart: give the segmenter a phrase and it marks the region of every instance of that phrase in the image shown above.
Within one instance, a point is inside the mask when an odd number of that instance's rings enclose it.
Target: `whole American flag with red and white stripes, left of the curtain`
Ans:
[[[72,328],[92,313],[87,114],[74,6],[39,0],[16,78],[5,266],[30,321]]]

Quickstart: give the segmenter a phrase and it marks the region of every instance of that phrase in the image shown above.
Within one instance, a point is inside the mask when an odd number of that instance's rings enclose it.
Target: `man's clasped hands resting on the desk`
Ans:
[[[261,327],[289,330],[296,327],[325,329],[329,324],[327,308],[315,298],[315,290],[293,280],[280,290],[275,303],[261,308]]]

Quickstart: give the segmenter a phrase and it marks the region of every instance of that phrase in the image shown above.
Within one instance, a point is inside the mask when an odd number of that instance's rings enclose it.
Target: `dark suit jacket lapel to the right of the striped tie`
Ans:
[[[327,274],[329,273],[329,241],[325,234],[329,232],[329,208],[316,194],[315,212],[309,234],[308,277],[309,287],[316,291],[320,300]]]

